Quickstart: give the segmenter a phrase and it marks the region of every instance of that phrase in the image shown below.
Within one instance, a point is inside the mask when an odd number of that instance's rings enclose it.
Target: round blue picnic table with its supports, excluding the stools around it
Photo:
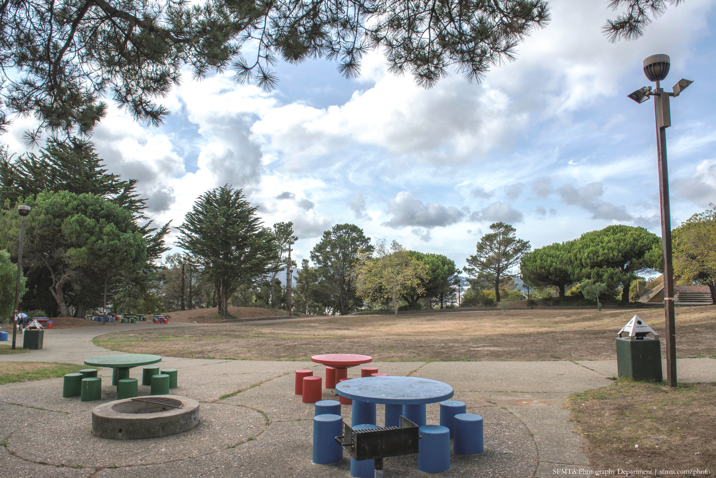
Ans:
[[[353,400],[351,426],[376,424],[375,404],[385,405],[385,426],[400,426],[400,415],[425,425],[425,404],[452,398],[453,387],[420,377],[363,377],[336,385],[336,393]]]

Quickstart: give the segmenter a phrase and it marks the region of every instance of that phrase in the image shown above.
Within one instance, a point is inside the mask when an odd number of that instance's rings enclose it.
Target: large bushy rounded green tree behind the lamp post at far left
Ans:
[[[66,286],[81,291],[105,275],[131,274],[145,265],[147,243],[131,213],[104,197],[44,191],[26,203],[32,213],[26,218],[23,263],[49,272],[49,291],[63,316],[71,315]],[[14,255],[19,232],[19,215],[13,207],[3,208],[0,240]]]

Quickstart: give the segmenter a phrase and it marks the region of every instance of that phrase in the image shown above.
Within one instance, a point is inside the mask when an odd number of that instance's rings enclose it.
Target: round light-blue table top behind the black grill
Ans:
[[[345,380],[336,384],[336,393],[347,399],[392,405],[434,404],[455,394],[453,387],[441,381],[401,376]]]

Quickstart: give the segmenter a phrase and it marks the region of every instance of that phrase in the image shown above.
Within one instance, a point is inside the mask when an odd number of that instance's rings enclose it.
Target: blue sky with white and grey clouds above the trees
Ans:
[[[616,16],[606,1],[552,0],[551,14],[480,84],[453,74],[423,89],[379,52],[356,79],[323,59],[279,64],[269,93],[231,72],[185,74],[163,100],[164,125],[110,101],[92,141],[110,172],[139,180],[157,223],[180,225],[199,195],[228,184],[265,225],[294,223],[299,263],[325,230],[354,223],[462,267],[497,221],[533,248],[611,224],[660,235],[653,100],[627,94],[651,84],[643,59],[665,53],[662,86],[694,80],[671,102],[672,227],[716,203],[716,2],[687,0],[614,44],[601,34]],[[16,119],[0,141],[24,152],[31,126]]]

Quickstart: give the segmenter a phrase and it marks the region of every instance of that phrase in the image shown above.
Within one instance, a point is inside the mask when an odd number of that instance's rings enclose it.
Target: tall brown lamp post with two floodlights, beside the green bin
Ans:
[[[665,92],[660,82],[669,74],[669,55],[656,54],[644,59],[644,74],[657,87],[643,87],[629,94],[629,98],[643,103],[654,97],[654,115],[657,123],[657,167],[659,169],[659,203],[662,213],[662,252],[664,253],[664,320],[666,322],[667,385],[677,386],[676,331],[674,323],[674,267],[672,265],[671,212],[669,208],[669,170],[667,167],[667,127],[671,126],[669,97],[677,97],[693,82],[679,79],[674,92]]]

